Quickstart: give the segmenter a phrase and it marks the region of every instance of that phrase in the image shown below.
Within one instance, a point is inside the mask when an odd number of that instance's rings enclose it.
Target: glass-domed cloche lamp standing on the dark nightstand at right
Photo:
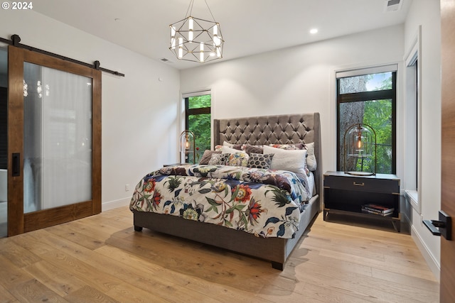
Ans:
[[[355,123],[345,134],[344,170],[350,175],[376,175],[376,132],[368,124]]]

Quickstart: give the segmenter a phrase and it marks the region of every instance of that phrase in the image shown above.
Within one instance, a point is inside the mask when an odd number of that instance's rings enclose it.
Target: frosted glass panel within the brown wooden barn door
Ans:
[[[92,199],[92,79],[24,62],[23,212]]]

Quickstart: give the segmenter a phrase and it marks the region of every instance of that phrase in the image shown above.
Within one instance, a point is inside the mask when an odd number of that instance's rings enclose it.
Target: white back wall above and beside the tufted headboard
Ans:
[[[213,89],[216,119],[318,111],[323,170],[336,170],[335,71],[400,62],[392,26],[181,71],[181,92]]]

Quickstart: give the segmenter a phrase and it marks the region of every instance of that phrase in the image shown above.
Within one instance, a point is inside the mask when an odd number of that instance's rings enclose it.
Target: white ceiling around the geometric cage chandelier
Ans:
[[[223,59],[393,26],[405,21],[410,1],[386,11],[387,0],[194,0],[191,15],[220,23]],[[168,50],[169,24],[188,16],[191,0],[40,0],[33,11],[177,69],[200,66]],[[311,28],[319,32],[312,35]],[[25,42],[24,42],[25,43]],[[212,62],[220,62],[214,60]],[[204,63],[204,64],[212,64]]]

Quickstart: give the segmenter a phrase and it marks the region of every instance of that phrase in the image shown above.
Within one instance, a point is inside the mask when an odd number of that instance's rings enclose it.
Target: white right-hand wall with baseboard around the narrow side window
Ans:
[[[405,23],[405,50],[422,26],[422,216],[410,209],[412,236],[439,278],[440,238],[422,224],[441,209],[441,14],[439,1],[414,0]],[[406,113],[404,113],[406,114]]]

